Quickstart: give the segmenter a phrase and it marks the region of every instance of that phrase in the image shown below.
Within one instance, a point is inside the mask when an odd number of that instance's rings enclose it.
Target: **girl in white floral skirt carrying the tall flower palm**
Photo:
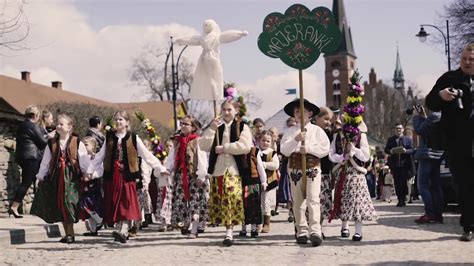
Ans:
[[[341,237],[349,237],[348,221],[355,221],[353,241],[362,240],[362,222],[376,219],[370,198],[364,163],[370,159],[367,141],[367,126],[359,125],[360,133],[356,143],[346,141],[343,134],[336,134],[331,143],[329,159],[337,165],[333,173],[337,177],[334,193],[334,207],[330,220],[342,220]]]

